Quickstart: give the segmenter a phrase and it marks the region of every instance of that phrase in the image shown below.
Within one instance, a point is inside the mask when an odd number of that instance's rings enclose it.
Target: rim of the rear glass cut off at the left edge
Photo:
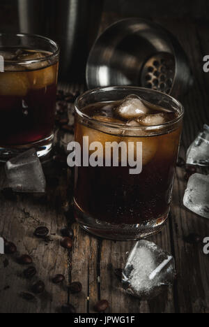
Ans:
[[[50,43],[51,45],[54,46],[55,50],[52,54],[46,55],[44,58],[39,58],[39,59],[21,59],[21,60],[4,60],[5,64],[13,64],[13,65],[25,65],[25,64],[36,64],[38,62],[41,61],[46,61],[46,60],[50,60],[54,57],[56,57],[57,55],[59,55],[60,53],[60,48],[58,43],[56,43],[55,41],[53,41],[51,38],[47,38],[46,36],[41,36],[38,34],[29,34],[29,33],[6,33],[6,32],[0,32],[0,38],[1,36],[17,36],[17,37],[24,37],[24,36],[28,36],[28,37],[33,37],[33,38],[39,38],[42,39],[43,41],[46,41],[47,43]],[[3,48],[3,46],[0,45],[0,49]],[[13,46],[10,46],[9,48],[14,48]]]

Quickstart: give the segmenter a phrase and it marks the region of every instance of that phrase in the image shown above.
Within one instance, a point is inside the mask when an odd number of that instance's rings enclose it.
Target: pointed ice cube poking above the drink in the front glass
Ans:
[[[122,119],[134,119],[146,115],[150,109],[144,105],[139,96],[127,96],[116,108],[116,115]]]

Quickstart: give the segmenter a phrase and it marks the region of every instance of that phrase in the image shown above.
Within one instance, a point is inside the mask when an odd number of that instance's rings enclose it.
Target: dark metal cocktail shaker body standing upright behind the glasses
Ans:
[[[20,32],[48,36],[61,47],[60,73],[81,80],[98,34],[103,0],[17,0]]]

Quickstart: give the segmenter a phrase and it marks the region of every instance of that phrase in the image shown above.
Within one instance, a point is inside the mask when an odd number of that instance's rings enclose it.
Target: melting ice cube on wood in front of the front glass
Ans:
[[[173,256],[153,242],[140,240],[125,264],[123,287],[141,300],[152,299],[171,286],[175,277]]]

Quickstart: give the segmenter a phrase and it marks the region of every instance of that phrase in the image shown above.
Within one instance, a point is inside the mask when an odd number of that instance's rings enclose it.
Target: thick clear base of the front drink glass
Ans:
[[[75,202],[75,218],[79,225],[88,233],[107,240],[141,240],[150,235],[159,233],[167,221],[169,212],[162,217],[141,224],[110,224],[105,221],[93,219],[85,214]]]

